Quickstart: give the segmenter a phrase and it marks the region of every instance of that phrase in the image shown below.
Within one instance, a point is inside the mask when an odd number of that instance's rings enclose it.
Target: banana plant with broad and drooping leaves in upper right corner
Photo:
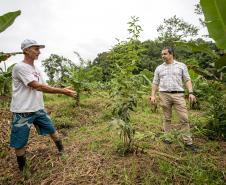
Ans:
[[[221,53],[214,52],[208,45],[195,42],[176,42],[176,45],[187,46],[193,52],[202,51],[215,58],[213,68],[209,71],[208,69],[203,71],[197,67],[193,67],[193,69],[201,75],[222,80],[226,72],[226,3],[225,0],[200,0],[200,5],[209,35],[215,41],[216,46],[221,49]]]

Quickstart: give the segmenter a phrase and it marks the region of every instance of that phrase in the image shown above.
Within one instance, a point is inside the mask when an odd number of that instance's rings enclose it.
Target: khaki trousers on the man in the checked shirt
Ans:
[[[162,107],[164,115],[163,128],[165,133],[170,132],[172,107],[174,107],[179,117],[182,138],[186,144],[192,144],[190,126],[188,122],[188,111],[184,94],[160,92],[160,106]]]

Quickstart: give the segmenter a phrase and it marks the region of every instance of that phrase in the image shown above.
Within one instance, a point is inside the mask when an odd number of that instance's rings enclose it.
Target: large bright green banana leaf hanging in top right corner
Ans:
[[[209,35],[217,47],[226,49],[226,1],[200,0]]]

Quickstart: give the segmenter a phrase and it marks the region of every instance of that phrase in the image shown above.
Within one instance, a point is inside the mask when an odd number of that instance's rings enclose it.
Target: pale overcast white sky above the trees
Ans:
[[[0,33],[0,51],[20,51],[26,38],[45,44],[40,60],[51,53],[78,61],[73,51],[93,60],[128,35],[131,16],[140,18],[140,40],[155,39],[164,18],[177,15],[199,26],[194,14],[198,0],[0,0],[0,15],[21,10],[22,14]],[[20,61],[23,56],[11,57]]]

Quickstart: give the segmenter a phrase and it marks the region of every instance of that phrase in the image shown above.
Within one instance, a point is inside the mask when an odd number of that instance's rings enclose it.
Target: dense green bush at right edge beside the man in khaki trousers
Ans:
[[[193,86],[199,101],[206,104],[203,110],[205,109],[207,120],[199,126],[200,131],[210,139],[226,138],[225,85],[198,76],[193,80]]]

